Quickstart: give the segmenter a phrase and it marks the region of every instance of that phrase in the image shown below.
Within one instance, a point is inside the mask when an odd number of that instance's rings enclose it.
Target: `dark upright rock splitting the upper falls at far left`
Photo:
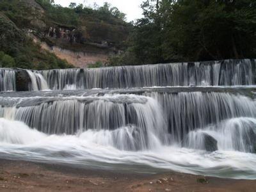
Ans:
[[[31,79],[26,70],[17,70],[16,74],[16,90],[17,92],[28,92],[29,84],[31,84]]]

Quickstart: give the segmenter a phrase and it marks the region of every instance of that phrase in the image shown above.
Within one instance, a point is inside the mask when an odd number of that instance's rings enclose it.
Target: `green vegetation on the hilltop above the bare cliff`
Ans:
[[[62,7],[51,0],[36,0],[36,2],[45,10],[43,20],[47,26],[76,29],[76,33],[79,33],[77,35],[79,43],[82,45],[108,42],[109,47],[123,49],[123,42],[132,28],[131,24],[125,22],[125,14],[109,3],[104,3],[103,6],[95,4],[94,8],[91,8],[76,3]],[[58,43],[58,41],[53,42],[53,44]],[[63,44],[58,46],[64,49],[74,48]],[[83,50],[83,47],[81,48]]]

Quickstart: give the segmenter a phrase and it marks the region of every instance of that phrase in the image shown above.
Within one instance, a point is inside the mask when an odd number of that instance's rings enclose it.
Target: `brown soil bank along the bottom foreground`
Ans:
[[[255,191],[256,180],[143,175],[0,160],[0,191]]]

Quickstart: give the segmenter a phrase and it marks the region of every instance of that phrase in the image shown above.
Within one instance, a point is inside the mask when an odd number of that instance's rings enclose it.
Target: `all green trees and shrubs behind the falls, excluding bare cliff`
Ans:
[[[0,67],[70,67],[42,51],[23,30],[44,34],[51,26],[77,29],[84,37],[76,46],[81,49],[102,40],[117,50],[126,49],[109,58],[111,66],[256,58],[256,2],[252,0],[145,0],[141,4],[143,18],[134,26],[108,3],[94,8],[71,3],[64,8],[53,0],[24,1],[0,1]],[[28,6],[28,2],[37,7]],[[132,33],[124,42],[130,29]],[[58,40],[43,40],[58,44]],[[67,47],[72,49],[70,44]]]

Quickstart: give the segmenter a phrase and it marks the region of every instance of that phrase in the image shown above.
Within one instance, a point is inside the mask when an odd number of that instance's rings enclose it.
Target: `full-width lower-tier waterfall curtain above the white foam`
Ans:
[[[166,137],[172,138],[172,143],[182,143],[195,129],[240,116],[256,117],[256,102],[232,93],[152,92],[143,95],[22,98],[2,110],[2,117],[19,120],[47,134],[137,127],[140,140],[144,142],[140,148],[145,148],[148,131],[164,143],[170,141]]]

